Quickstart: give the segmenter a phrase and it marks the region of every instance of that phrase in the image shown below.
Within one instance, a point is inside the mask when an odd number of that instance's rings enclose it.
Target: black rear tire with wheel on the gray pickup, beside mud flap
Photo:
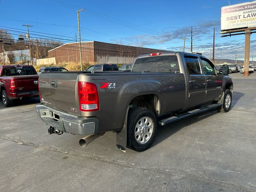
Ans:
[[[138,134],[143,134],[144,136],[138,135],[138,138],[136,138],[135,136],[135,132],[137,132],[136,129],[138,130],[138,132],[140,131],[139,128],[136,128],[136,124],[140,122],[142,118],[148,118],[146,127],[142,128],[142,133],[138,133]],[[150,130],[148,126],[151,127],[150,122],[152,122],[152,130],[151,132],[148,132],[148,130]],[[138,152],[142,152],[148,149],[155,138],[156,130],[157,130],[157,120],[154,112],[152,112],[148,108],[142,108],[142,107],[132,108],[128,113],[128,119],[127,119],[127,146]],[[151,133],[150,136],[147,135],[148,133]],[[144,139],[147,138],[146,136],[148,136],[148,140],[146,140],[146,142],[143,143]],[[142,137],[144,137],[144,139]],[[142,142],[142,143],[139,143],[139,142]]]

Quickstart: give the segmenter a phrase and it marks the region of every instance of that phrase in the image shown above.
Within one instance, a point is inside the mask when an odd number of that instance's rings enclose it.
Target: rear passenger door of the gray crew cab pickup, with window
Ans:
[[[185,56],[188,73],[188,102],[186,108],[204,103],[206,95],[206,79],[202,73],[199,58]]]

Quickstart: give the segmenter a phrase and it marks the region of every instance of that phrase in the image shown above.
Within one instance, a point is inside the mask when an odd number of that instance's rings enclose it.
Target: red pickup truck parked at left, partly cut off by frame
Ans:
[[[38,97],[38,74],[31,65],[0,66],[0,93],[5,107],[13,100]]]

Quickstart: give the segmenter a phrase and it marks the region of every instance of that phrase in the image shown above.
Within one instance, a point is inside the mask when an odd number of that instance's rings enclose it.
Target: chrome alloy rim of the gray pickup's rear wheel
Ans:
[[[152,136],[152,132],[154,129],[154,122],[150,117],[142,117],[136,123],[134,136],[136,142],[139,144],[145,144],[148,142],[150,137]]]

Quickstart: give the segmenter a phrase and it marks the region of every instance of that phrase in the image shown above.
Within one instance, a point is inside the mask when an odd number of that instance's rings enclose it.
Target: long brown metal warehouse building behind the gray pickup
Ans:
[[[131,63],[137,56],[164,50],[104,43],[98,41],[81,42],[82,61],[97,63]],[[80,62],[79,43],[66,43],[48,51],[48,58],[60,62]]]

